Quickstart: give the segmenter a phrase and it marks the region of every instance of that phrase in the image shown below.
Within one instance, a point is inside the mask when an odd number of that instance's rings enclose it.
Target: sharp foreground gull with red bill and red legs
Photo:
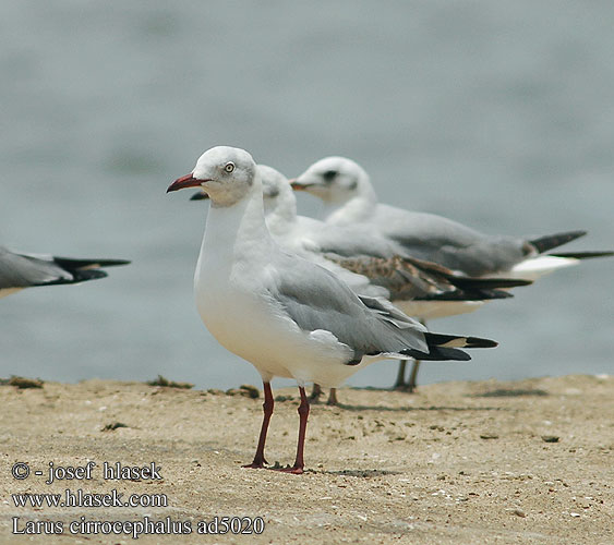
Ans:
[[[264,468],[274,400],[270,380],[299,387],[299,438],[292,467],[300,474],[309,415],[306,383],[337,387],[377,360],[412,356],[467,361],[461,348],[490,348],[477,337],[433,334],[388,301],[357,295],[342,280],[280,247],[266,227],[262,182],[252,156],[217,146],[168,192],[202,187],[212,202],[194,274],[198,313],[213,336],[262,376],[264,416],[248,468]]]

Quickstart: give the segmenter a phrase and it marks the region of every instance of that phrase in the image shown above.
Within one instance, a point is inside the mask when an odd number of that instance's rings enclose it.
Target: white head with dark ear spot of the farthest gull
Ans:
[[[346,157],[320,159],[291,183],[296,191],[306,191],[327,203],[338,204],[373,191],[364,169]]]

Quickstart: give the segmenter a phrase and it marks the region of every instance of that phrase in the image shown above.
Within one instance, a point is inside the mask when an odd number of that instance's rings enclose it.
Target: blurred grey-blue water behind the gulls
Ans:
[[[0,376],[260,384],[193,303],[207,207],[165,194],[218,144],[288,177],[346,155],[383,202],[612,249],[613,25],[605,0],[4,0],[0,243],[133,264],[0,301]],[[612,373],[613,278],[585,263],[432,323],[501,347],[422,382]]]

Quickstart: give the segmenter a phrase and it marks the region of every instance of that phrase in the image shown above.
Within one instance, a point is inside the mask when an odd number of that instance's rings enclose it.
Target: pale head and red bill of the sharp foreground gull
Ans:
[[[214,206],[232,206],[250,193],[255,178],[256,164],[248,152],[217,146],[201,155],[192,172],[172,182],[167,193],[201,187]]]

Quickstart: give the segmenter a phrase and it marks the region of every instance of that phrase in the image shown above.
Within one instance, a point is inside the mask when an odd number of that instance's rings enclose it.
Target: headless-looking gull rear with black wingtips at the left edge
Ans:
[[[125,259],[80,259],[46,254],[22,254],[0,246],[0,298],[24,288],[80,283],[105,278],[103,267],[128,265]]]

